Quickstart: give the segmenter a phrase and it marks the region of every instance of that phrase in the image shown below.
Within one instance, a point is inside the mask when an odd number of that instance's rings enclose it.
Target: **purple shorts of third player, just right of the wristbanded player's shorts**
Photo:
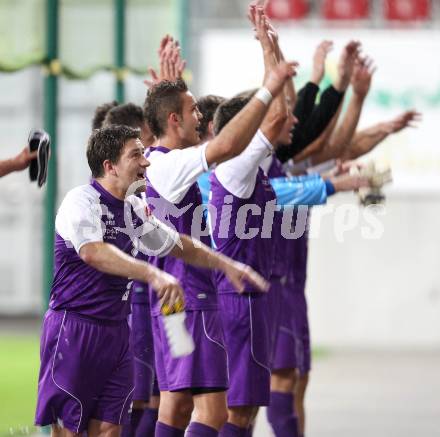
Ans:
[[[219,305],[228,351],[228,406],[269,405],[269,296],[220,294]]]

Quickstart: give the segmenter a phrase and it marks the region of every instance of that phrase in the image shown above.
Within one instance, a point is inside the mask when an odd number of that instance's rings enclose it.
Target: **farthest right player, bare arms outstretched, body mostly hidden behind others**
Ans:
[[[297,167],[301,169],[300,171],[305,171],[313,164],[323,163],[329,159],[356,159],[368,153],[388,135],[398,132],[407,126],[412,126],[413,122],[420,120],[419,113],[407,111],[389,122],[379,123],[370,128],[355,132],[363,102],[370,89],[373,73],[374,68],[371,60],[369,58],[359,59],[351,75],[353,95],[341,125],[335,131],[337,118],[340,114],[339,110],[332,122],[317,139],[316,144],[311,145],[313,152],[310,154],[310,158],[297,164]],[[317,84],[321,81],[322,76],[323,69],[321,76],[316,81]],[[331,165],[331,163],[328,164]],[[311,368],[310,334],[305,297],[308,252],[307,234],[298,240],[294,240],[292,243],[293,264],[291,266],[293,265],[293,269],[291,269],[292,274],[288,276],[288,287],[293,290],[291,297],[294,314],[293,321],[296,326],[296,362],[299,371],[293,392],[295,396],[295,412],[299,422],[299,433],[302,436],[305,431],[304,397]]]

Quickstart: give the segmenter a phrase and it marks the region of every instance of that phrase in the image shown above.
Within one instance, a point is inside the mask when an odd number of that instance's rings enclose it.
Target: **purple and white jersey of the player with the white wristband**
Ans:
[[[147,202],[154,215],[170,224],[179,233],[191,235],[207,246],[211,245],[206,213],[202,205],[197,179],[208,170],[202,146],[170,150],[152,147],[148,157]],[[217,294],[212,272],[185,264],[172,257],[151,258],[150,262],[179,279],[185,293],[188,310],[217,308]],[[155,295],[151,296],[153,314],[160,312]]]

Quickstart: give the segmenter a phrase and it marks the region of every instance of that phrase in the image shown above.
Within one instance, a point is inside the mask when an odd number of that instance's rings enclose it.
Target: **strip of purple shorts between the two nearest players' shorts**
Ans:
[[[133,399],[148,402],[158,394],[154,370],[154,347],[150,305],[131,304],[131,344],[134,355]]]

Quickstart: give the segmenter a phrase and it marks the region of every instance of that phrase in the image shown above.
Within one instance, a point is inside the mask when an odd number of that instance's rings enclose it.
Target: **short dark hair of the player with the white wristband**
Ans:
[[[164,80],[148,90],[144,114],[151,132],[157,138],[165,133],[171,113],[182,114],[182,94],[187,91],[188,86],[183,79],[175,82]]]

